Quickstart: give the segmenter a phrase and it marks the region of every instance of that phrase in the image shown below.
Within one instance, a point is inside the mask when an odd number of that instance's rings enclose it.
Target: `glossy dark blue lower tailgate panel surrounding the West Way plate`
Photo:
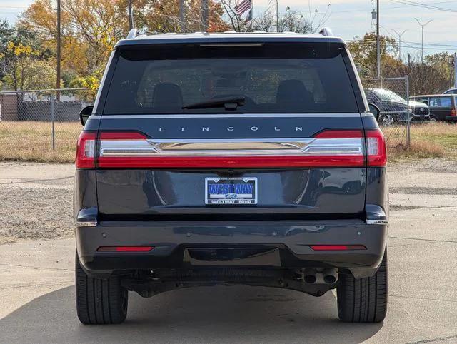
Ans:
[[[102,214],[361,213],[365,168],[283,171],[99,170]],[[258,178],[257,206],[205,206],[205,178]]]

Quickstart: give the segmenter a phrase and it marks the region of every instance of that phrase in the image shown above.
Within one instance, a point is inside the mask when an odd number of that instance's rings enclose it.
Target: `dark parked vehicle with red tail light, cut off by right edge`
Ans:
[[[428,105],[430,120],[457,122],[457,96],[453,94],[431,94],[426,96],[413,96],[410,99]]]

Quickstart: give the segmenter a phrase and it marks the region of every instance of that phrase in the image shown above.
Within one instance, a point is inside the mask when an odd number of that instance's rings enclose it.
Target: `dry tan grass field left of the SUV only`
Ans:
[[[81,123],[55,124],[56,149],[52,150],[51,123],[0,122],[0,161],[72,163]]]

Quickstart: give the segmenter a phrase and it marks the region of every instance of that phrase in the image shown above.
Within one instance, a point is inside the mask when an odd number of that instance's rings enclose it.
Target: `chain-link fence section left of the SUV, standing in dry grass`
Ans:
[[[0,159],[72,161],[87,88],[0,92]]]

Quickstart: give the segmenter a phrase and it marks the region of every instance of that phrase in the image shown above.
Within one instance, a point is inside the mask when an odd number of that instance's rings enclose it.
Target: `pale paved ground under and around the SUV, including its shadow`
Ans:
[[[69,166],[51,167],[39,183],[71,177]],[[234,286],[149,299],[131,293],[124,324],[84,326],[75,311],[73,239],[22,240],[0,246],[0,342],[457,343],[457,164],[425,161],[389,172],[383,323],[339,323],[334,293]]]

